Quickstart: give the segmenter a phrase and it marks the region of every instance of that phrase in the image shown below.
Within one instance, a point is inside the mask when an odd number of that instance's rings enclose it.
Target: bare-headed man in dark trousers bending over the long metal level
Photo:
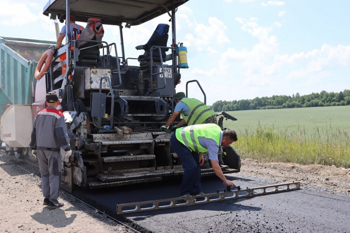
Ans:
[[[219,146],[229,146],[237,141],[237,134],[231,129],[221,130],[215,124],[193,125],[176,129],[170,139],[174,151],[181,160],[184,169],[180,196],[202,195],[201,165],[203,153],[209,152],[209,159],[215,174],[225,185],[233,186],[226,179],[218,162]]]

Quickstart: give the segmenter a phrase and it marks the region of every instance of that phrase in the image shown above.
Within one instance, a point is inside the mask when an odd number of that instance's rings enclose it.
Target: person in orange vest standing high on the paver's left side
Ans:
[[[73,15],[70,16],[69,23],[70,23],[69,31],[70,31],[71,39],[72,40],[79,39],[80,34],[82,34],[84,27],[75,23],[75,18]],[[58,38],[57,38],[57,44],[56,44],[57,49],[61,48],[62,41],[63,41],[66,34],[67,34],[67,25],[63,25],[61,32],[59,33]],[[63,53],[61,56],[59,56],[60,62],[64,61],[65,59],[66,59],[66,53]],[[65,73],[66,68],[67,68],[67,65],[62,66],[62,74]]]

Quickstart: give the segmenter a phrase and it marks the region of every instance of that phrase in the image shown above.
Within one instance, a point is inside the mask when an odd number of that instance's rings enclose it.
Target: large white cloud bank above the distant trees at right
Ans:
[[[233,68],[238,67],[235,72],[236,89],[257,90],[257,87],[272,90],[273,94],[290,93],[290,87],[305,86],[312,87],[318,84],[322,86],[324,79],[331,77],[331,70],[339,67],[349,67],[350,64],[350,45],[332,46],[322,45],[307,52],[283,54],[279,53],[279,41],[275,35],[272,35],[276,27],[263,27],[258,24],[258,19],[237,18],[241,24],[241,29],[258,41],[251,49],[228,48],[222,54],[219,61],[219,69],[225,79],[222,82],[230,82]],[[226,88],[226,87],[225,87]],[[229,86],[226,88],[229,91]],[[295,90],[293,90],[295,91]],[[225,91],[222,90],[224,93]],[[239,91],[238,91],[239,92]],[[297,91],[295,91],[297,92]],[[222,94],[217,93],[219,96]],[[264,95],[260,93],[260,96]],[[240,93],[242,98],[246,93]],[[216,97],[225,99],[224,97]],[[227,98],[226,98],[227,99]]]

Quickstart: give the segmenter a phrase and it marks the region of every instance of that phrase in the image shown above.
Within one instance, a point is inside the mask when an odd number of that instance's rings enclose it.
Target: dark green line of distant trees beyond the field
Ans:
[[[238,111],[252,109],[303,108],[321,106],[350,105],[350,90],[334,93],[322,91],[300,95],[273,95],[271,97],[255,97],[252,100],[216,101],[211,107],[215,112]]]

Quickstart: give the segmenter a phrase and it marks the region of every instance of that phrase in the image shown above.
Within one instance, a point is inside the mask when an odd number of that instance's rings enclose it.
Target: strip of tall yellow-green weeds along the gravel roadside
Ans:
[[[339,128],[317,127],[308,132],[298,127],[276,132],[273,126],[262,128],[258,124],[253,134],[248,129],[239,132],[234,146],[243,159],[350,167],[350,137]]]

